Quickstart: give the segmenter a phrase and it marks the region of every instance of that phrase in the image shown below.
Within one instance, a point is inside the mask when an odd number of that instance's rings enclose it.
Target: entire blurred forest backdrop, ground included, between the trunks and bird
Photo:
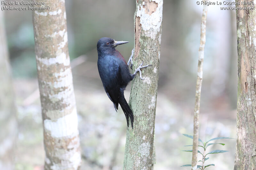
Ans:
[[[72,69],[78,110],[83,163],[81,169],[122,169],[126,121],[109,101],[97,69],[96,44],[101,37],[130,43],[117,47],[128,61],[134,42],[135,1],[66,0],[68,47],[71,60],[85,62]],[[166,0],[156,107],[156,170],[188,169],[191,162],[195,86],[202,5]],[[1,11],[2,12],[2,11]],[[12,65],[19,134],[16,170],[39,170],[44,164],[41,107],[36,79],[32,11],[5,11],[5,26]],[[80,57],[81,58],[81,57]],[[130,86],[125,92],[129,100]],[[200,135],[236,138],[237,48],[235,11],[208,9]],[[235,139],[217,141],[214,149],[230,152],[211,155],[210,169],[232,169]]]

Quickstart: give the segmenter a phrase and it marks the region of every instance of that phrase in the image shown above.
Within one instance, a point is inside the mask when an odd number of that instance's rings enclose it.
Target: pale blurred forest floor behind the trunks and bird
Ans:
[[[97,71],[73,70],[78,123],[82,148],[82,167],[86,170],[120,170],[124,161],[126,121],[121,109],[116,113],[113,104],[102,88]],[[40,100],[37,97],[36,79],[14,79],[18,107],[19,136],[17,140],[16,170],[41,170],[44,164],[43,128]],[[129,100],[130,87],[125,91]],[[156,170],[182,170],[191,163],[191,153],[182,152],[191,148],[192,139],[182,134],[193,134],[194,101],[180,103],[170,97],[171,92],[159,90],[156,105],[155,147]],[[30,98],[28,98],[30,96]],[[31,97],[32,96],[32,97]],[[27,101],[24,103],[24,100]],[[201,108],[200,138],[236,138],[236,110],[230,109],[225,96]],[[215,141],[213,141],[215,142]],[[210,150],[229,152],[212,154],[206,164],[215,164],[209,170],[233,169],[235,139],[216,140],[222,145],[213,145]],[[200,155],[199,155],[200,158]]]

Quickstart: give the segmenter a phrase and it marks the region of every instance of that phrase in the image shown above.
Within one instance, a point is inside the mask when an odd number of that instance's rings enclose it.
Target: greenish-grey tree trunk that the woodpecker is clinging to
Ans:
[[[129,104],[134,114],[134,127],[127,129],[124,169],[149,170],[153,169],[163,0],[136,0],[136,6],[133,70],[142,61],[152,66],[142,70],[144,80],[137,75],[132,81]]]

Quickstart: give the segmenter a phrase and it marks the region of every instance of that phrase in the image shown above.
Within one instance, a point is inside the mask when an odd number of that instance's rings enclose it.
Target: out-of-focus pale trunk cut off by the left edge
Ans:
[[[0,5],[0,7],[2,7]],[[0,169],[14,169],[17,134],[16,109],[4,30],[4,12],[0,12]]]

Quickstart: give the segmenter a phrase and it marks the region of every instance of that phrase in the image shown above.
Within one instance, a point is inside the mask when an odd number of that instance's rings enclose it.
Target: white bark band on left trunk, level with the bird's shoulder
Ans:
[[[59,51],[57,51],[57,53],[59,53]],[[59,64],[65,65],[65,66],[68,66],[70,64],[69,57],[67,58],[67,55],[64,52],[60,53],[55,58],[39,58],[36,55],[36,59],[37,59],[37,61],[39,61],[40,63],[43,63],[44,65],[52,65],[52,64],[59,63]]]

